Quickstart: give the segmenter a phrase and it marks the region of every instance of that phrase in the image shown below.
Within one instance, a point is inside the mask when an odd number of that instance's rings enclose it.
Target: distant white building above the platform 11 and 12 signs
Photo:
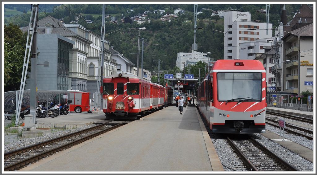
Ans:
[[[210,64],[210,57],[206,53],[200,53],[192,50],[191,53],[179,52],[177,53],[176,66],[181,70],[189,64],[196,64],[198,61],[203,61]]]

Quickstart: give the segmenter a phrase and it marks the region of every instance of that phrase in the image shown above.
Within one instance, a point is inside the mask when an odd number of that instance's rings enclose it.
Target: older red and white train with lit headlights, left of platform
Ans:
[[[173,89],[137,76],[119,73],[105,77],[100,88],[107,118],[136,119],[137,115],[172,104]]]

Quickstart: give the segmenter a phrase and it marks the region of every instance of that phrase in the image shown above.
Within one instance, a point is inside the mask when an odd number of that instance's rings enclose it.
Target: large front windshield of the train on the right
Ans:
[[[218,101],[237,99],[254,99],[248,102],[262,100],[262,74],[261,73],[217,73]]]

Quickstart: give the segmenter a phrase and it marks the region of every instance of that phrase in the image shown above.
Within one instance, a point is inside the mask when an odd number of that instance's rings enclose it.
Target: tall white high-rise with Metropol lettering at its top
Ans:
[[[272,23],[268,24],[268,28],[272,28]],[[240,58],[239,44],[256,41],[262,38],[271,38],[272,30],[266,30],[265,22],[251,22],[251,14],[249,12],[227,11],[224,14],[224,59]],[[255,58],[252,51],[249,57]],[[244,59],[244,58],[240,58]]]

